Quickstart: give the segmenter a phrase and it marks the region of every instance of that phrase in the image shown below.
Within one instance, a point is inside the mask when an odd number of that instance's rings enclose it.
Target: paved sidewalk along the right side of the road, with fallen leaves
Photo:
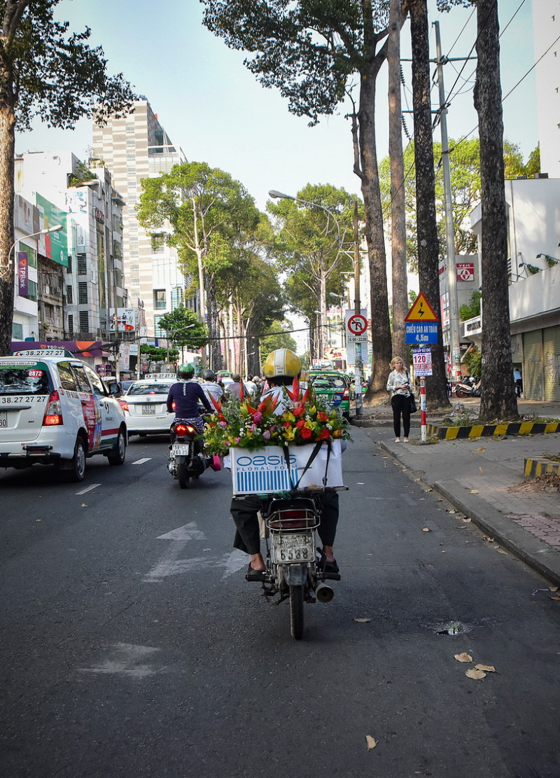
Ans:
[[[476,400],[461,403],[474,413],[478,410]],[[520,401],[518,407],[522,415],[560,419],[559,403]],[[441,412],[430,412],[428,423],[442,417]],[[353,424],[502,548],[560,585],[560,492],[556,485],[523,476],[526,458],[560,454],[560,433],[418,444],[420,413],[412,418],[411,443],[394,442],[390,405],[364,407],[362,418]],[[558,483],[554,477],[548,480]]]

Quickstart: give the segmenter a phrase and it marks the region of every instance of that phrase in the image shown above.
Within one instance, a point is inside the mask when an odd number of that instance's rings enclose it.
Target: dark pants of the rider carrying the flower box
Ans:
[[[338,492],[324,492],[319,500],[321,517],[317,532],[323,545],[334,545],[338,524]],[[256,495],[232,500],[229,510],[236,525],[233,548],[239,548],[246,554],[261,552],[257,512],[261,510],[263,504],[263,500]]]

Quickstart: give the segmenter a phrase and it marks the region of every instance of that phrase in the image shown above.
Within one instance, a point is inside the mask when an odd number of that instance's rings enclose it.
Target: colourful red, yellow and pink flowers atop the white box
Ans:
[[[243,396],[227,405],[214,401],[216,412],[206,422],[206,449],[211,454],[227,454],[229,447],[255,450],[264,446],[303,446],[322,440],[350,440],[348,423],[334,408],[327,408],[299,382],[292,390],[282,387],[284,412],[278,401],[264,398],[256,408]],[[212,399],[212,398],[211,398]]]

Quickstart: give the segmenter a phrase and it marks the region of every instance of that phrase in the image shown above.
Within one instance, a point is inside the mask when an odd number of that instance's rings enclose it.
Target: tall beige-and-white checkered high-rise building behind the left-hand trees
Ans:
[[[142,179],[169,173],[186,158],[173,145],[159,124],[148,100],[134,103],[128,116],[112,118],[104,127],[93,125],[93,156],[103,160],[113,175],[114,186],[124,198],[123,253],[128,298],[142,307],[145,327],[138,334],[148,341],[165,337],[159,317],[184,303],[186,286],[177,261],[177,251],[166,245],[165,235],[149,234],[136,218],[135,205],[142,192]],[[187,301],[194,308],[194,301]]]

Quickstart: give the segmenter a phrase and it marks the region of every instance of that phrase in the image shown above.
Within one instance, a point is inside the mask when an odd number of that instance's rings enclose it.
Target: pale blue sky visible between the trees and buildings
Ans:
[[[502,93],[506,95],[534,64],[531,0],[500,0],[502,34]],[[472,9],[437,14],[429,0],[430,22],[439,20],[444,54],[466,57],[474,44],[476,21]],[[243,65],[243,54],[230,51],[221,39],[202,26],[198,0],[62,0],[58,17],[73,30],[91,27],[92,45],[101,45],[109,72],[123,72],[136,93],[145,95],[173,143],[187,159],[205,161],[240,180],[264,209],[269,189],[295,195],[307,183],[333,184],[359,193],[352,173],[352,136],[341,106],[338,115],[307,127],[305,118],[289,114],[282,97],[263,89]],[[470,19],[470,21],[468,21]],[[467,26],[464,28],[464,25]],[[402,57],[407,57],[408,25],[404,28]],[[431,46],[434,34],[431,34]],[[473,51],[474,54],[474,51]],[[435,44],[432,56],[435,57]],[[462,62],[446,65],[449,91]],[[435,66],[434,66],[435,67]],[[405,97],[411,107],[411,78],[404,63]],[[466,65],[453,89],[448,114],[450,138],[476,128],[472,104],[475,62]],[[387,155],[387,68],[377,82],[377,144],[380,158]],[[432,93],[437,101],[437,88]],[[405,105],[403,106],[406,107]],[[506,138],[527,156],[538,142],[534,72],[503,103]],[[412,117],[408,118],[412,131]],[[476,136],[475,131],[473,135]],[[439,140],[439,134],[436,134]],[[16,135],[17,152],[56,152],[69,149],[86,159],[91,145],[89,121],[74,131],[49,129],[39,120],[33,131]]]

